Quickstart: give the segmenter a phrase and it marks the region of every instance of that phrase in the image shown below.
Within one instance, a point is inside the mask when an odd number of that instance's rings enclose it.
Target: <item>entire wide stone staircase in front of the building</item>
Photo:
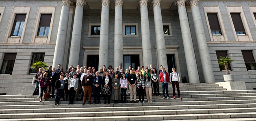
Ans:
[[[170,99],[153,96],[153,103],[147,103],[145,96],[146,103],[137,104],[53,105],[54,98],[39,102],[37,96],[5,95],[0,96],[0,121],[256,121],[256,90],[180,83],[182,99],[172,99],[171,90],[169,85]]]

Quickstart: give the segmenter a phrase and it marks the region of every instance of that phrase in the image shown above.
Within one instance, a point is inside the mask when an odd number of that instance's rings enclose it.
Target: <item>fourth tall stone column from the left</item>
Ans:
[[[115,0],[114,69],[123,63],[123,0]],[[124,66],[122,64],[122,66]]]

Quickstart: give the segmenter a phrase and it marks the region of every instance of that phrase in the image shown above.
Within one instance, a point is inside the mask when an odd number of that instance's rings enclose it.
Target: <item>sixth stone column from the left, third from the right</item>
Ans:
[[[160,8],[161,0],[153,0],[153,10],[154,10],[154,22],[155,22],[155,31],[156,31],[156,51],[158,58],[158,65],[163,65],[165,70],[168,71],[167,65],[167,56],[165,48],[165,36],[163,33],[163,20],[162,13]],[[169,72],[170,73],[170,72]]]

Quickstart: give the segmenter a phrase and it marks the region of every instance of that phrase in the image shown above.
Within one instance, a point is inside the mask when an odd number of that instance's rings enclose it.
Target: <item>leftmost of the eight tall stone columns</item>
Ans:
[[[67,38],[67,25],[69,18],[70,0],[62,0],[61,17],[59,21],[59,29],[57,33],[56,46],[54,50],[52,67],[56,68],[59,64],[63,65],[65,42]]]

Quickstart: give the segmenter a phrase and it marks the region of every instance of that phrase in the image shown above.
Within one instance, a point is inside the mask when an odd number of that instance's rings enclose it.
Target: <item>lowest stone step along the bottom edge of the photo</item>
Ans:
[[[227,118],[254,118],[256,113],[212,113],[212,114],[181,114],[181,115],[138,115],[138,116],[102,116],[102,117],[70,117],[73,114],[69,113],[68,117],[61,118],[33,118],[33,119],[2,119],[0,121],[152,121],[152,120],[187,120],[187,119],[227,119]],[[47,116],[47,115],[46,115]],[[81,115],[82,116],[82,115]],[[11,117],[11,116],[10,116]],[[15,117],[15,116],[13,116]]]

